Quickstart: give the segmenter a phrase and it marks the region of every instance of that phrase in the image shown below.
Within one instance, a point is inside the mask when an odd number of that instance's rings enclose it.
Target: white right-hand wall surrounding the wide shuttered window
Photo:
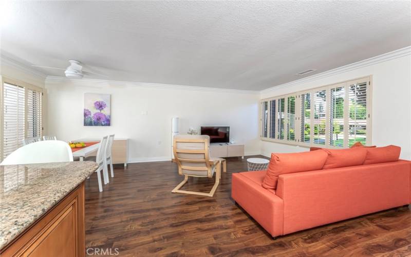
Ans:
[[[400,54],[401,52],[401,54]],[[405,53],[404,53],[405,52]],[[302,82],[264,90],[261,99],[372,75],[372,144],[401,146],[401,158],[411,159],[411,55],[401,50],[325,72]],[[357,68],[356,68],[357,66]],[[261,141],[261,153],[300,152],[307,148]]]

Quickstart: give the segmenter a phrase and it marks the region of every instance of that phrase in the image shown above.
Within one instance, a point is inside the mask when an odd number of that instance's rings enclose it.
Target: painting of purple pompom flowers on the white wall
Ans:
[[[110,125],[110,95],[84,93],[84,125]]]

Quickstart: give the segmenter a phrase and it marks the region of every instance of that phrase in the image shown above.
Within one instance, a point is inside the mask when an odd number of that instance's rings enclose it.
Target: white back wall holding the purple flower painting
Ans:
[[[246,155],[260,153],[257,93],[49,78],[46,88],[50,135],[69,141],[115,133],[129,138],[130,162],[171,158],[173,117],[180,117],[181,134],[189,127],[228,125]],[[83,126],[84,93],[111,94],[111,126]]]

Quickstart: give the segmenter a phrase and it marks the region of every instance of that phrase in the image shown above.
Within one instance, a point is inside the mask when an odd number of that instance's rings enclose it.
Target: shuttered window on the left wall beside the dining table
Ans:
[[[0,160],[23,145],[27,137],[42,136],[42,89],[3,77]]]

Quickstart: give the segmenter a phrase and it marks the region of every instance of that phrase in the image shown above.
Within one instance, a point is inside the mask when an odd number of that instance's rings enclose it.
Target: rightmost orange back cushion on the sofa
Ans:
[[[364,164],[398,161],[400,158],[400,153],[401,148],[396,145],[367,148],[367,155],[365,157]]]

